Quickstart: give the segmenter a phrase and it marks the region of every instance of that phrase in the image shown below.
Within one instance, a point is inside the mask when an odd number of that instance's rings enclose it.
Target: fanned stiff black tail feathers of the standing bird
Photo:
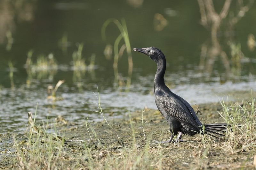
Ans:
[[[225,133],[229,129],[232,131],[232,128],[227,123],[214,123],[214,124],[205,124],[204,133],[209,134],[213,137],[219,138],[215,135],[225,136]]]

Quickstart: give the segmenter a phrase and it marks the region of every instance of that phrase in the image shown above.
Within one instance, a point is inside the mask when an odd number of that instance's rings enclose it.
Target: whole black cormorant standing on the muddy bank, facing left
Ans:
[[[196,133],[209,134],[218,138],[215,135],[224,136],[218,132],[226,132],[226,123],[217,124],[202,124],[196,116],[194,109],[186,100],[174,94],[164,83],[164,73],[166,70],[165,56],[159,49],[155,47],[148,48],[133,48],[133,51],[138,51],[148,55],[157,64],[157,71],[154,80],[155,102],[158,110],[164,116],[170,125],[172,136],[170,140],[160,143],[172,142],[175,135],[179,135],[176,142],[182,141],[182,134],[193,136]],[[204,126],[204,128],[203,128]],[[203,131],[204,129],[204,131]]]

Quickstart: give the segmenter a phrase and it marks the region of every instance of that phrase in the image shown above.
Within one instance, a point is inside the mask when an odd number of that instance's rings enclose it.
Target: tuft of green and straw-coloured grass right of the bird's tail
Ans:
[[[254,148],[256,145],[256,106],[255,97],[251,97],[251,101],[242,101],[240,105],[234,105],[233,103],[224,102],[222,100],[221,105],[223,111],[220,112],[226,122],[230,125],[230,129],[227,133],[228,138],[225,145],[233,153],[244,152],[250,148]]]

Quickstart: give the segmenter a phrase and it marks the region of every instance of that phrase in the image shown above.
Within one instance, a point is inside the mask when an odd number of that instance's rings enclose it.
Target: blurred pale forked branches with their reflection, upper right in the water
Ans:
[[[220,13],[218,13],[214,8],[212,0],[198,0],[201,14],[201,24],[211,31],[211,45],[207,45],[207,43],[202,45],[200,68],[202,68],[202,70],[206,69],[211,75],[214,63],[216,62],[217,57],[220,56],[226,69],[226,79],[230,78],[231,71],[235,76],[240,76],[240,72],[242,70],[241,61],[243,53],[241,52],[239,45],[236,46],[234,44],[234,35],[232,35],[232,33],[234,32],[234,26],[237,24],[239,19],[244,17],[244,14],[249,11],[254,1],[250,0],[246,5],[243,4],[243,1],[238,1],[238,10],[235,14],[232,11],[230,12],[231,2],[231,0],[226,0]],[[228,42],[231,48],[232,70],[230,68],[228,55],[221,47],[220,38],[218,37],[221,25],[228,14],[228,26],[225,32],[227,33],[226,42]]]

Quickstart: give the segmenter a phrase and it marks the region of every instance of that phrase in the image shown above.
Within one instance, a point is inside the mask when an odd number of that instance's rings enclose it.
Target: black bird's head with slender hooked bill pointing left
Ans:
[[[132,50],[148,55],[155,62],[158,62],[159,59],[165,59],[163,52],[155,47],[133,48]]]

